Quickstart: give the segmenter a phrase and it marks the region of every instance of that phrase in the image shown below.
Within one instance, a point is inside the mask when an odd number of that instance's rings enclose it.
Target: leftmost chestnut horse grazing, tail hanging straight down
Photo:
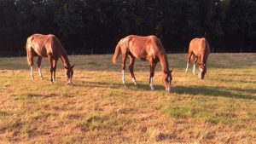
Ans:
[[[65,49],[63,48],[61,42],[57,37],[52,34],[42,35],[42,34],[33,34],[31,37],[28,37],[26,40],[26,55],[27,63],[31,66],[31,78],[33,76],[33,55],[36,53],[38,55],[38,73],[39,77],[43,79],[41,72],[41,61],[43,57],[48,57],[49,66],[50,66],[50,81],[55,82],[55,71],[56,64],[59,58],[61,58],[63,66],[66,68],[66,78],[67,84],[73,84],[73,66],[70,65],[67,58]]]

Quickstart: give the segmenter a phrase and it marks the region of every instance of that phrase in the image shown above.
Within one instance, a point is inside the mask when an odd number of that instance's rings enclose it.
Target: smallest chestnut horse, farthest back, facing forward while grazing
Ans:
[[[203,79],[205,77],[205,74],[207,73],[207,59],[209,55],[210,55],[210,46],[206,38],[202,37],[202,38],[192,39],[191,42],[189,43],[189,55],[188,55],[186,73],[188,72],[191,56],[193,56],[193,60],[194,60],[193,73],[195,75],[195,63],[199,59],[198,77]]]

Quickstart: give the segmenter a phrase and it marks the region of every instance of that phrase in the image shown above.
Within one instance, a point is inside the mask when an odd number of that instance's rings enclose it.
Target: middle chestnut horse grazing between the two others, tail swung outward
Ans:
[[[125,84],[125,60],[127,56],[130,58],[130,72],[131,78],[135,85],[137,85],[136,78],[133,73],[133,66],[135,58],[140,60],[148,60],[150,65],[150,77],[149,86],[154,89],[153,78],[154,78],[154,68],[158,61],[162,66],[162,80],[165,84],[166,91],[171,91],[172,82],[172,71],[169,70],[168,59],[166,55],[166,50],[164,49],[160,40],[155,36],[140,37],[135,35],[130,35],[122,38],[117,44],[114,55],[113,63],[117,63],[119,54],[122,55],[122,72],[123,72],[123,83]]]

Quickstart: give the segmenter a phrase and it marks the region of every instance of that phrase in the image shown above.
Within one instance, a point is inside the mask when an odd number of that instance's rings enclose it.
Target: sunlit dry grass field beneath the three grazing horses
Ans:
[[[112,55],[73,55],[73,86],[61,61],[56,82],[30,80],[26,57],[0,58],[0,143],[253,143],[256,54],[211,54],[201,80],[185,74],[186,55],[168,55],[172,93],[158,64],[152,91],[148,62],[136,60],[138,85],[122,84]],[[120,61],[120,59],[119,59]]]

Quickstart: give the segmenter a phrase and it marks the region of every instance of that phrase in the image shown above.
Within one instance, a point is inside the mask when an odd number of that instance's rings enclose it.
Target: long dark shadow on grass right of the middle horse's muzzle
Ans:
[[[189,95],[209,95],[209,96],[221,96],[227,98],[237,98],[237,99],[248,99],[256,100],[256,97],[253,95],[241,95],[234,94],[231,90],[236,92],[248,92],[253,93],[253,89],[219,89],[218,87],[206,87],[206,86],[177,86],[172,89],[172,93],[177,94],[189,94]]]

